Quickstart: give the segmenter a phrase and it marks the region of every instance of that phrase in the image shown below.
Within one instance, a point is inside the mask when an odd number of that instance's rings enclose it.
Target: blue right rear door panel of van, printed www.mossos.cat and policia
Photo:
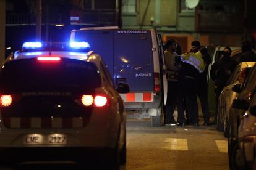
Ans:
[[[150,31],[114,30],[115,81],[118,78],[126,78],[132,92],[153,92],[154,63]]]

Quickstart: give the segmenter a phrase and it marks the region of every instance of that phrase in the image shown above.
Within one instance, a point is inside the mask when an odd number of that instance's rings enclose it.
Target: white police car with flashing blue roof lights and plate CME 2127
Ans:
[[[126,163],[126,113],[105,63],[87,42],[25,42],[0,70],[1,163]],[[17,154],[19,153],[19,154]]]

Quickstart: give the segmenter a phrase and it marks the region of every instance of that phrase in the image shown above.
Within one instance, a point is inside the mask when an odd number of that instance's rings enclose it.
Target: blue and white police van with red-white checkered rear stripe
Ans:
[[[127,83],[120,94],[127,111],[151,116],[152,126],[163,125],[167,80],[160,34],[155,30],[95,27],[72,30],[70,41],[88,42],[101,55],[115,85]]]

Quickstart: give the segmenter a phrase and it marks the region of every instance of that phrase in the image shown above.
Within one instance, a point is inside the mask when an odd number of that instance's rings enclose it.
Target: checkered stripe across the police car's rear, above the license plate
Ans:
[[[88,124],[85,117],[77,118],[20,118],[3,117],[2,121],[7,128],[80,128]]]

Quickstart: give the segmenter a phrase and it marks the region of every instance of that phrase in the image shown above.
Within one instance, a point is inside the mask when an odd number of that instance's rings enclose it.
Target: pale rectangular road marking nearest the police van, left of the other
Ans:
[[[163,148],[168,150],[189,150],[187,139],[164,138],[163,142],[166,144]]]

